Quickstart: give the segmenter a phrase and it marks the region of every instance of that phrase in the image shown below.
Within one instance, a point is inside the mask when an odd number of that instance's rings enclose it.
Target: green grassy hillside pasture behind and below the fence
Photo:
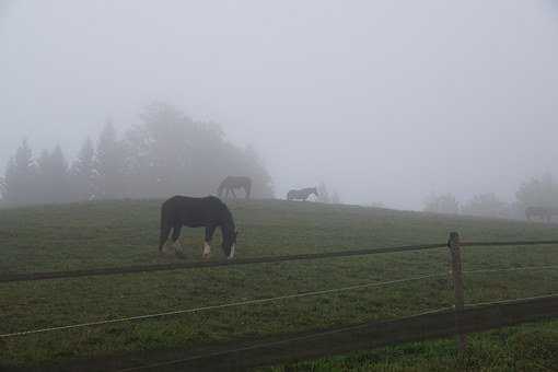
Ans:
[[[183,231],[183,255],[156,252],[161,201],[107,201],[0,210],[0,272],[200,260],[204,231]],[[277,200],[230,202],[237,257],[438,243],[558,239],[556,225]],[[222,259],[216,236],[211,259]],[[558,246],[472,247],[464,269],[558,266]],[[339,288],[447,271],[446,249],[107,277],[0,283],[0,334]],[[558,270],[472,274],[468,303],[558,292]],[[0,338],[0,369],[67,362],[235,337],[396,318],[452,304],[445,278],[212,310],[175,317]],[[558,365],[558,323],[409,344],[289,367],[301,371],[524,370]],[[264,370],[280,371],[283,367]]]

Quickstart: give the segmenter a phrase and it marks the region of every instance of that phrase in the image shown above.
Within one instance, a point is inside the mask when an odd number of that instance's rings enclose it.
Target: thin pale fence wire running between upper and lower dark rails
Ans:
[[[524,266],[524,267],[514,267],[514,268],[505,268],[505,269],[486,269],[486,270],[468,270],[468,271],[465,270],[465,271],[463,271],[463,274],[467,274],[467,275],[468,274],[492,274],[492,272],[551,270],[551,269],[558,269],[558,265]],[[198,313],[198,312],[204,312],[204,311],[235,307],[235,306],[245,306],[245,305],[251,305],[251,304],[264,304],[264,303],[281,301],[281,300],[290,300],[290,299],[299,299],[299,298],[329,294],[329,293],[336,293],[336,292],[345,292],[345,291],[351,291],[351,290],[363,289],[363,288],[386,287],[386,286],[391,286],[391,284],[399,284],[399,283],[404,283],[404,282],[419,281],[419,280],[425,280],[425,279],[431,279],[431,278],[441,278],[441,277],[445,277],[445,276],[446,276],[445,274],[430,274],[430,275],[422,275],[422,276],[412,277],[412,278],[404,278],[404,279],[395,279],[395,280],[381,281],[381,282],[363,283],[363,284],[326,289],[326,290],[319,290],[319,291],[302,292],[302,293],[295,293],[295,294],[286,294],[286,295],[275,297],[275,298],[246,300],[246,301],[230,302],[230,303],[224,303],[224,304],[219,304],[219,305],[208,305],[208,306],[200,306],[200,307],[194,307],[194,309],[184,309],[184,310],[168,311],[168,312],[162,312],[162,313],[154,313],[154,314],[119,317],[119,318],[114,318],[114,319],[79,323],[79,324],[71,324],[71,325],[63,325],[63,326],[53,326],[53,327],[46,327],[46,328],[37,328],[37,329],[14,332],[14,333],[8,333],[8,334],[0,334],[0,338],[11,338],[11,337],[16,337],[16,336],[43,334],[43,333],[50,333],[50,332],[65,330],[65,329],[84,328],[84,327],[92,327],[92,326],[100,326],[100,325],[107,325],[107,324],[115,324],[115,323],[125,323],[125,322],[142,321],[142,319],[150,319],[150,318],[159,318],[159,317],[174,316],[174,315],[179,315],[179,314],[191,314],[191,313]],[[537,298],[539,298],[539,297],[531,298],[531,299],[537,299]],[[527,299],[525,299],[525,300],[527,300]],[[491,302],[491,303],[484,303],[484,304],[493,304],[493,303],[499,303],[499,302]],[[476,304],[474,304],[474,305],[476,305]],[[467,304],[467,306],[470,306],[470,304]],[[430,312],[432,312],[432,311],[430,311]],[[421,313],[421,314],[423,314],[423,313]]]

